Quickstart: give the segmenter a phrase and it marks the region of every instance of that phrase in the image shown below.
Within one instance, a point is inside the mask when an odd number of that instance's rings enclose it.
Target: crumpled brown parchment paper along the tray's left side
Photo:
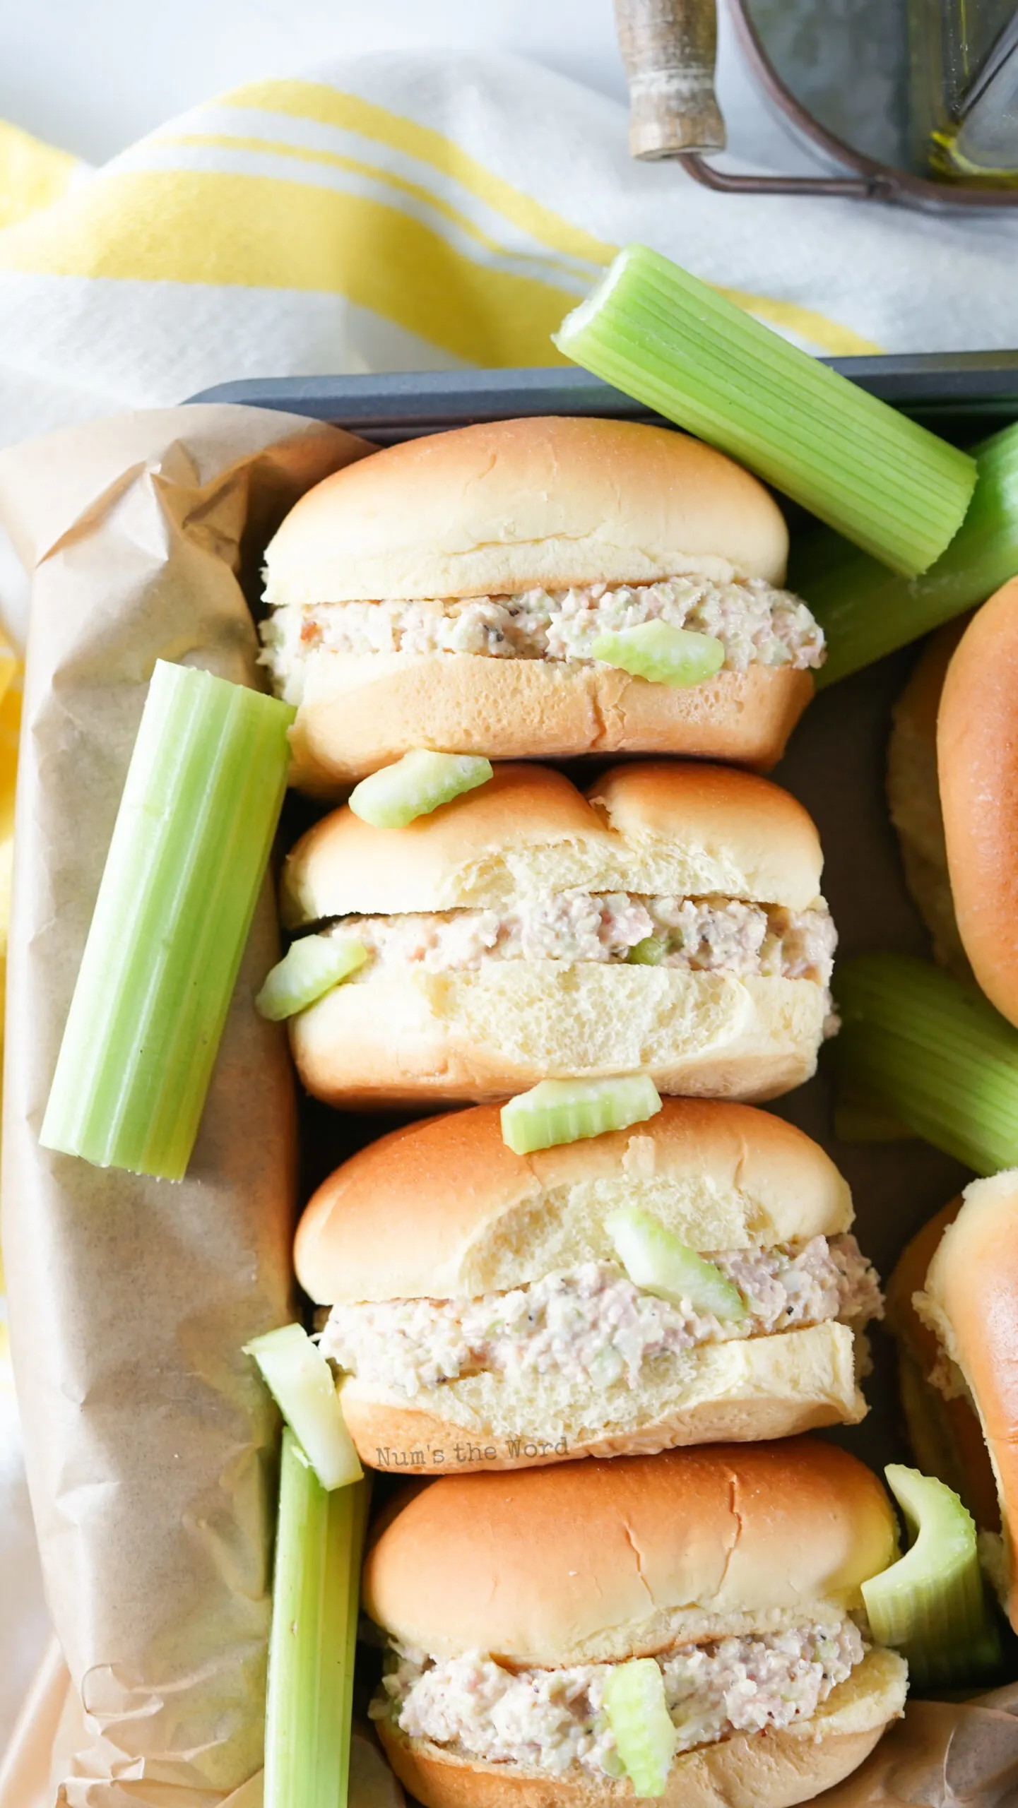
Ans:
[[[365,450],[195,405],[0,461],[0,510],[36,568],[4,1262],[47,1600],[87,1728],[54,1779],[71,1808],[213,1808],[262,1761],[277,1423],[240,1345],[289,1316],[295,1211],[289,1061],[251,1003],[277,955],[268,884],[186,1181],[51,1155],[38,1126],[152,665],[259,682],[244,537],[257,551]]]

